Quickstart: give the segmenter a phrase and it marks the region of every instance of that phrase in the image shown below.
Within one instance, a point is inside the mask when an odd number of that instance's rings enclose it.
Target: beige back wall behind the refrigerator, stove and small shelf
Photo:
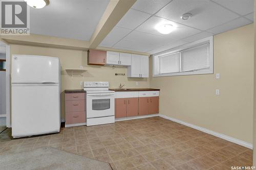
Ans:
[[[66,89],[82,89],[81,81],[108,81],[110,88],[118,88],[119,84],[125,84],[126,88],[148,88],[150,87],[149,80],[144,78],[127,78],[126,76],[115,76],[115,73],[127,73],[126,67],[116,67],[112,69],[111,66],[91,66],[87,65],[87,52],[79,50],[65,50],[61,48],[38,47],[27,45],[11,44],[11,55],[41,55],[58,57],[61,64],[61,117],[64,117],[64,98],[63,91]],[[80,65],[89,70],[83,73],[66,72],[65,68],[80,68]],[[138,82],[138,86],[136,85]]]

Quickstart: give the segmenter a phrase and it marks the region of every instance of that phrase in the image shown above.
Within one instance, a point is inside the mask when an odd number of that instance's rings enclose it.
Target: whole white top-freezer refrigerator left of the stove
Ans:
[[[59,132],[59,59],[13,55],[11,83],[12,136]]]

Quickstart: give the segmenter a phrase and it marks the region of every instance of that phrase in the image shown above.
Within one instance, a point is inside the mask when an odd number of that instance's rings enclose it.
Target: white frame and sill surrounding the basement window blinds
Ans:
[[[187,72],[170,72],[165,74],[160,74],[160,64],[159,57],[163,57],[165,55],[178,53],[188,48],[193,48],[199,45],[203,45],[209,43],[209,69],[207,70],[195,70],[195,71],[187,71]],[[213,44],[213,36],[194,41],[191,43],[187,43],[181,46],[177,46],[175,48],[171,48],[169,50],[156,53],[152,55],[153,59],[153,69],[152,75],[153,77],[165,77],[165,76],[183,76],[183,75],[205,75],[205,74],[214,74],[214,44]],[[180,63],[181,64],[181,63]]]

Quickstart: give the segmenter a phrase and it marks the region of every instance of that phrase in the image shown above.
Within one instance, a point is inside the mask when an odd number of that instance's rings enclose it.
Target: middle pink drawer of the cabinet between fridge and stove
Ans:
[[[65,101],[66,112],[86,111],[86,101]]]

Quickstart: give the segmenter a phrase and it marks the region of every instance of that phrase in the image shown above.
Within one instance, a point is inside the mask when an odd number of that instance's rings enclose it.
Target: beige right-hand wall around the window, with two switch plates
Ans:
[[[252,143],[253,34],[251,24],[214,36],[214,73],[221,79],[151,78],[151,87],[161,89],[160,114]]]

